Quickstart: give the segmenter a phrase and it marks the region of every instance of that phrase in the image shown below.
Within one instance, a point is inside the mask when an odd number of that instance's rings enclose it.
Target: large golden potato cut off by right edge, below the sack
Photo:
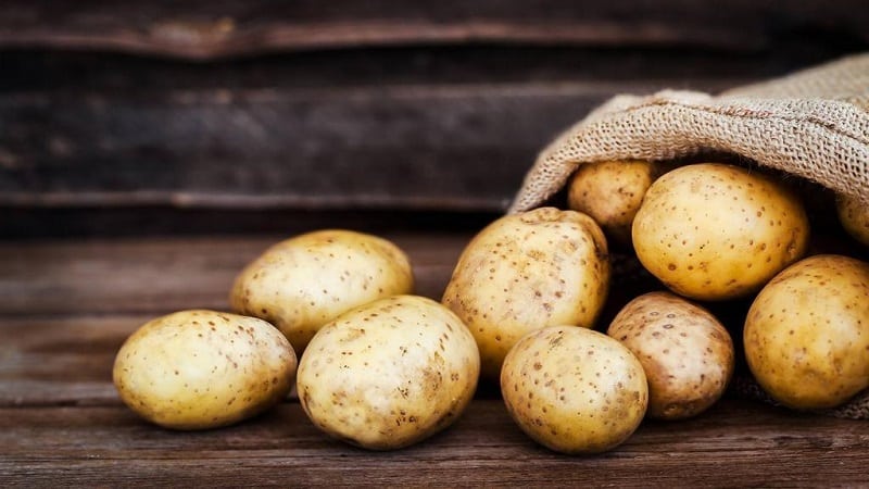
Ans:
[[[748,367],[794,409],[837,406],[869,387],[869,264],[820,254],[777,275],[745,319]]]

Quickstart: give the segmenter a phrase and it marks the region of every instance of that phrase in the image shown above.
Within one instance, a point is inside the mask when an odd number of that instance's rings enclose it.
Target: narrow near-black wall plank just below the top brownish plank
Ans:
[[[7,96],[46,91],[84,95],[171,90],[360,88],[381,86],[599,84],[727,88],[821,63],[849,50],[837,43],[774,52],[703,49],[469,45],[281,52],[206,63],[103,51],[0,50]],[[614,89],[620,88],[614,86]]]

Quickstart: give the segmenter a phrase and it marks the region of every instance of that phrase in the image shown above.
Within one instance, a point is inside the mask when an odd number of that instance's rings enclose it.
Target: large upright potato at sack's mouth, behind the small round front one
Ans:
[[[606,239],[576,211],[541,208],[501,217],[465,248],[443,294],[474,334],[482,375],[526,333],[552,325],[591,327],[609,287]]]

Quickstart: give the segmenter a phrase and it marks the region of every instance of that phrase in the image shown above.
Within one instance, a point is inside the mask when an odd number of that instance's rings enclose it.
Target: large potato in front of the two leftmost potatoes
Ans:
[[[455,422],[479,374],[474,337],[455,314],[431,299],[398,296],[324,326],[299,363],[297,390],[328,435],[391,450]]]

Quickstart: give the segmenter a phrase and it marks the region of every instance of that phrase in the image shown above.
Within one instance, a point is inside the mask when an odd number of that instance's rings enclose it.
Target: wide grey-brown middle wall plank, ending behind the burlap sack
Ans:
[[[0,205],[501,211],[555,134],[655,85],[0,97]]]

